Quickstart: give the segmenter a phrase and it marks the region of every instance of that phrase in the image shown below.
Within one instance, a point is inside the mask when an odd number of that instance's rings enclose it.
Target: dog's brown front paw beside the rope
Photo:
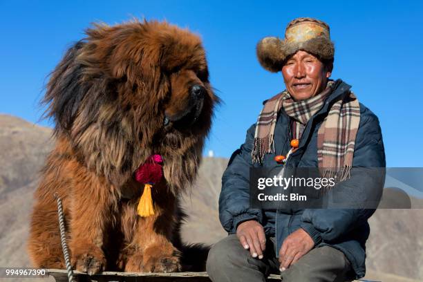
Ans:
[[[102,272],[106,267],[106,258],[103,252],[95,247],[87,248],[86,252],[73,254],[72,261],[76,270],[86,272],[88,275]]]

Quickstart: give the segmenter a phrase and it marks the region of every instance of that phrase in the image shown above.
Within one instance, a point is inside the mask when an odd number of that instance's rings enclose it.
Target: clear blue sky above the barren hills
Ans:
[[[353,85],[378,115],[390,167],[423,167],[422,1],[1,1],[0,113],[39,121],[48,73],[95,21],[166,19],[203,38],[211,82],[224,104],[206,151],[229,157],[261,102],[283,90],[263,70],[257,41],[283,37],[295,17],[326,21],[335,41],[332,78]]]

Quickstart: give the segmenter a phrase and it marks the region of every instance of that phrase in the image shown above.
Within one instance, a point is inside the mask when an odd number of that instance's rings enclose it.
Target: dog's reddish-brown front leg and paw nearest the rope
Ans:
[[[75,180],[71,199],[71,262],[81,272],[104,271],[106,257],[102,251],[106,227],[113,218],[113,193],[93,173]]]

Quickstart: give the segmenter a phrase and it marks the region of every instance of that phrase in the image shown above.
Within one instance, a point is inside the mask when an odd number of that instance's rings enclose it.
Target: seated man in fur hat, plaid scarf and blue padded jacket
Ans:
[[[212,281],[265,281],[279,272],[301,282],[364,276],[374,209],[250,207],[250,167],[318,167],[339,187],[373,189],[371,177],[352,168],[385,167],[379,121],[351,86],[329,79],[334,53],[329,26],[317,19],[294,19],[283,41],[259,42],[259,62],[282,71],[286,90],[263,103],[223,174],[219,213],[229,236],[209,252]]]

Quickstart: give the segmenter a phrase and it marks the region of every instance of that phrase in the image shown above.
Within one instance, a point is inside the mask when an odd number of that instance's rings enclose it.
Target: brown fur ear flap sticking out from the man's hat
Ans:
[[[282,52],[282,41],[277,37],[265,37],[257,44],[257,58],[263,68],[272,73],[281,71],[285,55]]]

